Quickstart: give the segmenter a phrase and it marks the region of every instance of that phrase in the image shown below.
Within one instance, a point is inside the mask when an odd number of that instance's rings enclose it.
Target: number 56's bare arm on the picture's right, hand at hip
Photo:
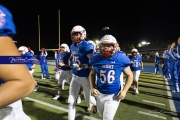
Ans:
[[[124,69],[123,73],[126,75],[126,84],[125,84],[123,90],[118,93],[119,99],[121,99],[121,100],[123,100],[125,98],[126,93],[129,90],[129,88],[133,82],[133,73],[129,66]]]

